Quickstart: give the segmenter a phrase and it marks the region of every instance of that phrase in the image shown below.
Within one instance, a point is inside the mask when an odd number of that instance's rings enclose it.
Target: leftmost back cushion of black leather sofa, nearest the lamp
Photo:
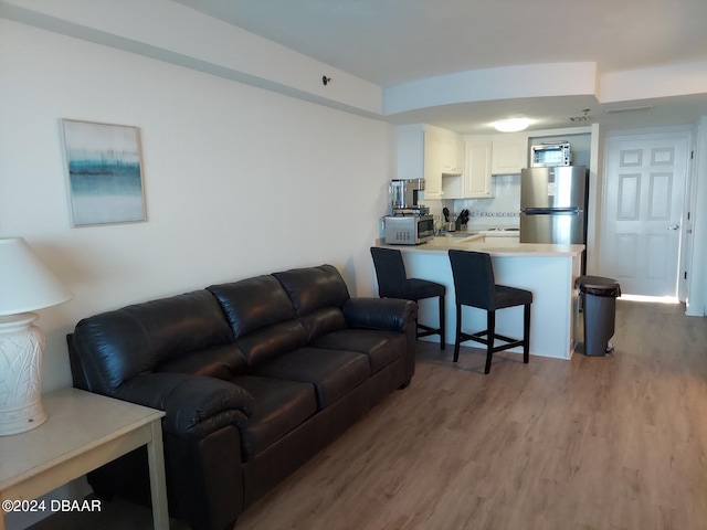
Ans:
[[[219,351],[233,374],[245,368],[233,332],[207,290],[85,318],[76,325],[72,346],[91,390],[106,394],[139,373],[160,371],[182,357],[197,360],[201,352],[211,358]]]

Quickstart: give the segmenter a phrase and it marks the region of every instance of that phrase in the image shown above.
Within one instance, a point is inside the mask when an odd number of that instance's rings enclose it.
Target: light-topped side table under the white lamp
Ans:
[[[61,502],[41,506],[29,501],[145,445],[155,529],[169,529],[163,412],[71,388],[44,394],[42,405],[49,415],[46,423],[0,436],[2,507],[8,501],[15,501],[15,507],[17,501],[28,501],[22,506],[33,511],[61,511]],[[0,508],[0,530],[4,530],[7,511]]]

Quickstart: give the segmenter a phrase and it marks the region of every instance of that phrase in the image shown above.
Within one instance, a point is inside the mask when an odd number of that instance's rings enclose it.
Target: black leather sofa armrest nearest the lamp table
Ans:
[[[255,403],[238,384],[171,372],[137,375],[118,386],[113,396],[165,411],[165,431],[189,438],[203,438],[226,425],[242,427]]]

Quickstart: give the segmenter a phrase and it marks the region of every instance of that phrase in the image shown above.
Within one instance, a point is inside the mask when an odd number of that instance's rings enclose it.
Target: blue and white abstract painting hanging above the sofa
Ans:
[[[139,129],[62,121],[73,225],[146,221]]]

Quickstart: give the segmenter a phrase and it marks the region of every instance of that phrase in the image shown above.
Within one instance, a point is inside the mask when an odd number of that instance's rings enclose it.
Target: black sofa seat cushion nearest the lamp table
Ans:
[[[247,462],[302,425],[317,412],[312,384],[240,375],[233,383],[254,399],[253,414],[241,432],[243,460]]]

